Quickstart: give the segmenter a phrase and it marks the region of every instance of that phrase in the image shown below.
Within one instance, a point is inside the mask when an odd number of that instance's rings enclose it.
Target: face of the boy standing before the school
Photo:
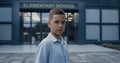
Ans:
[[[48,26],[51,33],[60,36],[65,30],[65,15],[53,15],[53,18],[48,21]]]

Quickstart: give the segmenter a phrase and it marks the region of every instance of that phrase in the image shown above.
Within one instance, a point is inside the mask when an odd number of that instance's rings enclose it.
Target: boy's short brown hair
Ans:
[[[60,8],[53,8],[49,12],[49,20],[53,18],[53,15],[65,15],[65,12]]]

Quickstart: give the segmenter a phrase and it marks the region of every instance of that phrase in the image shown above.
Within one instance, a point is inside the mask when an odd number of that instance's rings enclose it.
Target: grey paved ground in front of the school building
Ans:
[[[120,52],[97,45],[69,45],[71,63],[120,63]],[[0,63],[34,63],[35,45],[0,45]]]

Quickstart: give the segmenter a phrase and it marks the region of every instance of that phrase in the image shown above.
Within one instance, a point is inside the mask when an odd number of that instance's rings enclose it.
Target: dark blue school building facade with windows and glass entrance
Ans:
[[[0,1],[0,44],[38,44],[49,33],[48,13],[66,14],[64,39],[70,44],[120,44],[119,0]]]

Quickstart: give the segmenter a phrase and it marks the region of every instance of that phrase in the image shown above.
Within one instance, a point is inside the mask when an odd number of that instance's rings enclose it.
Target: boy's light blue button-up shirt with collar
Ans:
[[[38,45],[35,63],[69,63],[67,42],[49,33]]]

